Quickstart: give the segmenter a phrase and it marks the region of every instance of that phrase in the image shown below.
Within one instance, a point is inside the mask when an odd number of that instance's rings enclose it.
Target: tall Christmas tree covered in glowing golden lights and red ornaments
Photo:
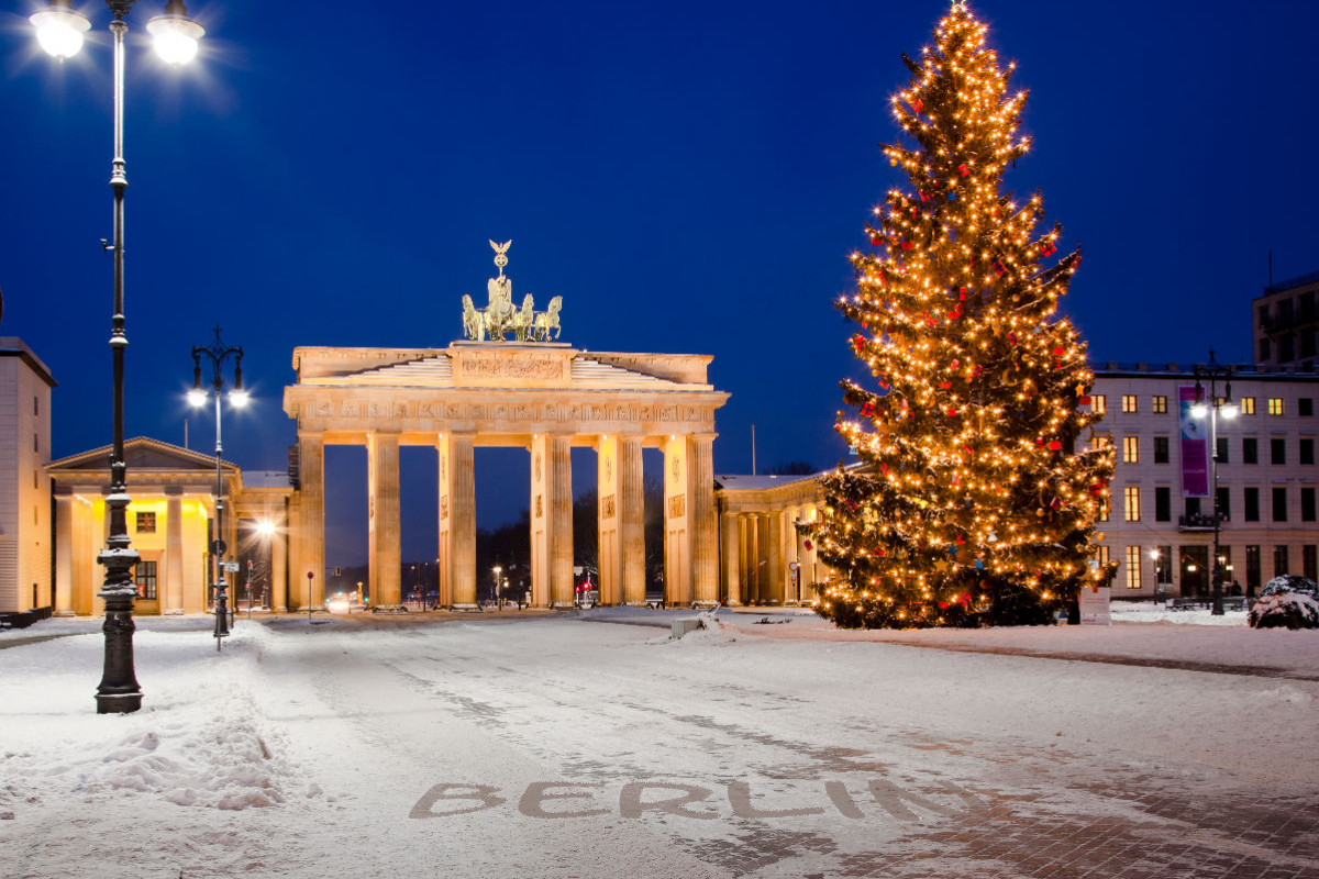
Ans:
[[[842,382],[836,428],[860,461],[826,477],[814,527],[835,571],[816,610],[843,627],[1051,623],[1113,576],[1092,560],[1112,449],[1083,436],[1093,377],[1058,315],[1080,249],[1058,256],[1038,192],[1000,188],[1029,149],[1026,92],[1008,94],[985,34],[956,3],[902,57],[906,137],[884,152],[909,186],[874,210],[836,303],[871,376]]]

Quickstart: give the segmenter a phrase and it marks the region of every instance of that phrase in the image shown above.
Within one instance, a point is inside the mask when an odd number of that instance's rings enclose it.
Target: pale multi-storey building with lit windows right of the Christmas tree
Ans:
[[[1236,581],[1252,593],[1281,573],[1315,579],[1319,378],[1266,366],[1233,369],[1231,401],[1240,414],[1220,415],[1216,435],[1219,544],[1231,567],[1224,580],[1229,590]],[[1177,364],[1095,370],[1091,406],[1104,418],[1089,439],[1111,443],[1117,461],[1108,515],[1097,526],[1104,560],[1119,563],[1115,597],[1210,592],[1212,480],[1188,477],[1183,467],[1183,434],[1199,435],[1208,452],[1208,416],[1181,415],[1179,391],[1194,387],[1192,370]],[[1217,393],[1224,393],[1221,381]]]

